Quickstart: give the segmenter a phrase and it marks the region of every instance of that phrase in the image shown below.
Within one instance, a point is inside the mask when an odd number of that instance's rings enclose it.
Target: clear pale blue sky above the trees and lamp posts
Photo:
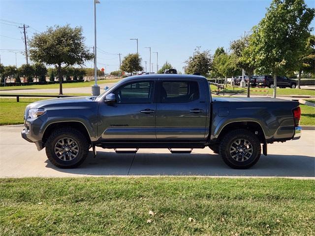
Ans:
[[[185,60],[197,46],[201,50],[228,50],[232,40],[239,39],[264,17],[271,0],[99,0],[96,5],[97,67],[106,72],[119,69],[122,59],[138,50],[149,71],[149,49],[158,52],[159,68],[167,60],[183,71]],[[309,7],[315,1],[306,0]],[[14,22],[14,23],[12,23]],[[4,65],[17,66],[26,59],[21,23],[30,26],[27,38],[47,27],[69,24],[82,26],[86,45],[94,46],[93,0],[0,0],[0,59]],[[315,21],[312,22],[315,27]],[[5,51],[3,51],[5,50]],[[157,54],[152,53],[153,71]],[[87,67],[93,67],[88,61]]]

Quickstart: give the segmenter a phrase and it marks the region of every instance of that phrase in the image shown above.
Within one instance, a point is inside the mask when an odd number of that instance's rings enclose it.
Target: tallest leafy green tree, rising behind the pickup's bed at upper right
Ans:
[[[274,76],[277,95],[277,75],[298,69],[310,35],[315,9],[304,0],[273,0],[265,17],[253,28],[250,45],[260,71]]]

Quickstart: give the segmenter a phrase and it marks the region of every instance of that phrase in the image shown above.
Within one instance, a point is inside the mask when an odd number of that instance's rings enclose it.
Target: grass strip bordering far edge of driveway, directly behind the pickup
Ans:
[[[84,96],[89,94],[71,95]],[[22,97],[20,98],[20,102],[16,102],[16,98],[0,98],[0,125],[22,124],[26,106],[38,100],[43,100],[43,98]],[[302,104],[300,106],[302,110],[300,125],[315,125],[315,108]]]

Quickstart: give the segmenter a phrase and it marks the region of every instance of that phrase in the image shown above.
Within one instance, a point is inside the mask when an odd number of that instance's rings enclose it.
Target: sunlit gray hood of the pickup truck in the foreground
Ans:
[[[78,96],[78,97],[62,97],[48,100],[33,102],[29,108],[40,108],[49,105],[64,104],[64,103],[80,103],[80,102],[93,102],[96,96]]]

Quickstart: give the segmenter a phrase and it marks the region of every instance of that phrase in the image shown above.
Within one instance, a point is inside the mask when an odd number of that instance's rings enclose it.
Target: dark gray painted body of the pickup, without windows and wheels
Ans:
[[[148,80],[155,82],[151,103],[108,105],[104,102],[105,96],[120,86]],[[161,103],[159,84],[163,80],[195,81],[200,97],[187,103]],[[58,98],[32,103],[27,111],[43,108],[46,113],[39,118],[27,118],[25,126],[28,132],[24,135],[30,142],[39,142],[49,125],[74,121],[86,127],[91,141],[97,146],[172,147],[183,144],[204,147],[215,143],[227,124],[253,121],[261,126],[268,143],[289,140],[294,136],[292,109],[299,105],[298,102],[271,98],[211,99],[208,82],[202,76],[134,76],[120,81],[98,97]],[[146,109],[154,112],[140,113]],[[202,112],[189,112],[192,109]]]

